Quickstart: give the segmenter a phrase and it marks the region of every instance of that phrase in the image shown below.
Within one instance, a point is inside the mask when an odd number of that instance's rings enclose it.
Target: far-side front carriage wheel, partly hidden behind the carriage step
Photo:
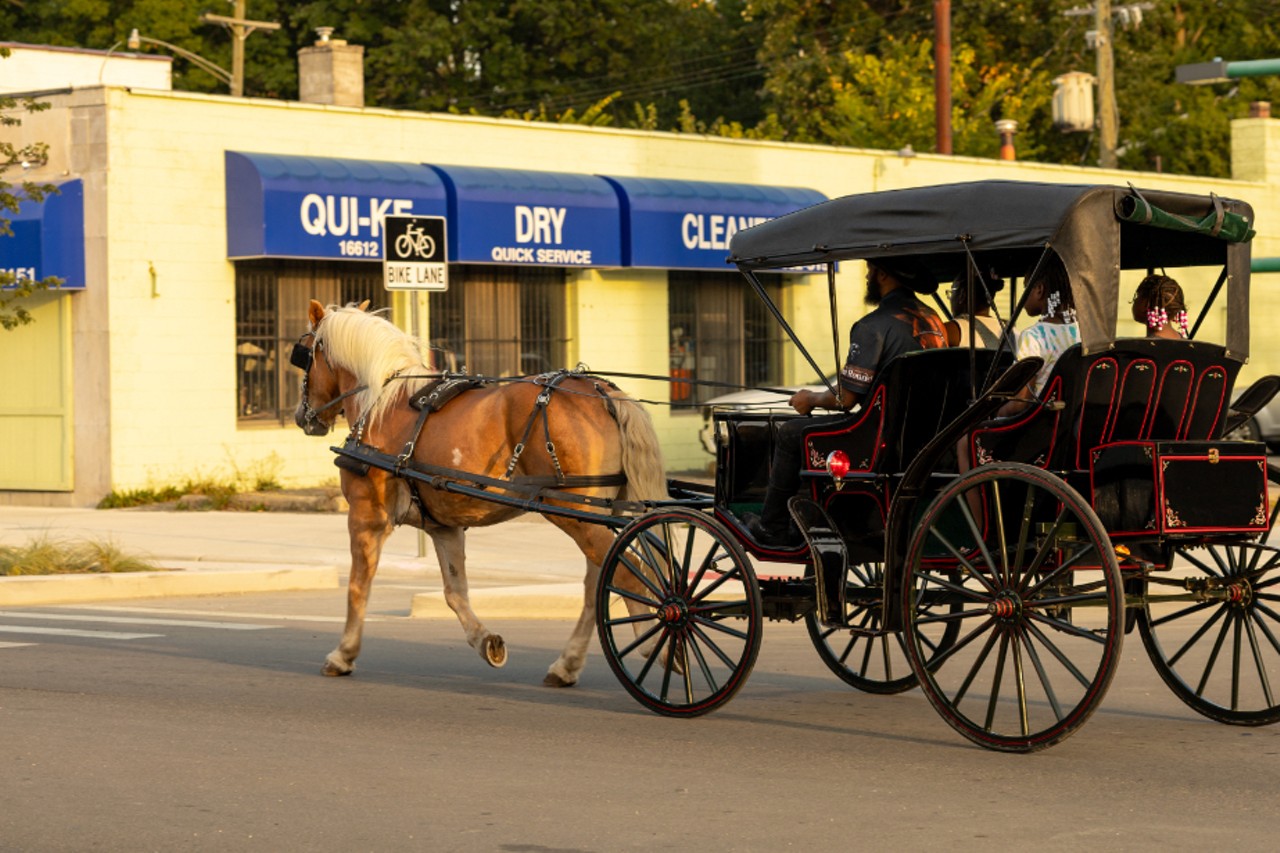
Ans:
[[[845,625],[823,625],[815,611],[804,621],[818,657],[841,681],[887,695],[918,681],[902,635],[882,630],[883,589],[884,564],[851,562],[845,569]]]

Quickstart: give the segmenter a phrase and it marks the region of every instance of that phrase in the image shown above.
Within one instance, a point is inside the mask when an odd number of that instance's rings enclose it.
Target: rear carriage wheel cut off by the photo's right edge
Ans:
[[[1272,524],[1275,516],[1272,515]],[[1138,628],[1174,694],[1211,720],[1280,720],[1280,549],[1253,543],[1174,548],[1147,579]]]

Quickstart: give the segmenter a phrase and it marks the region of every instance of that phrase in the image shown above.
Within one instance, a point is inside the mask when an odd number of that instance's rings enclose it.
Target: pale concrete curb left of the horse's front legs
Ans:
[[[0,607],[70,605],[166,596],[294,592],[334,589],[337,587],[338,569],[335,566],[31,575],[0,578]]]

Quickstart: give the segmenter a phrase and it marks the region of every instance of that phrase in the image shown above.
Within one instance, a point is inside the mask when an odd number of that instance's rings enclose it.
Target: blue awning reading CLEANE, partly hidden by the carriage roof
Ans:
[[[768,219],[827,201],[817,190],[608,177],[622,201],[623,264],[728,272],[728,241]]]

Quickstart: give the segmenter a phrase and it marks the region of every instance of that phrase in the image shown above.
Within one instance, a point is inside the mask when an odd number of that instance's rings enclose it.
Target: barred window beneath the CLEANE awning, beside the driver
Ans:
[[[774,277],[762,278],[777,302],[781,286],[768,280]],[[733,387],[778,384],[781,329],[741,275],[672,272],[667,288],[672,409],[698,406]],[[699,386],[690,379],[724,386]]]

